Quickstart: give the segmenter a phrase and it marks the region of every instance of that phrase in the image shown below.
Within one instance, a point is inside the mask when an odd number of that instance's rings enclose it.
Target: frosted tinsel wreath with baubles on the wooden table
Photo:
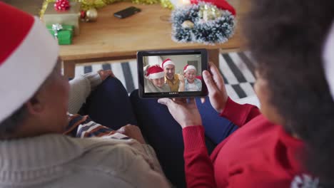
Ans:
[[[181,43],[224,43],[233,36],[236,26],[229,11],[204,2],[174,9],[171,21],[173,41]]]

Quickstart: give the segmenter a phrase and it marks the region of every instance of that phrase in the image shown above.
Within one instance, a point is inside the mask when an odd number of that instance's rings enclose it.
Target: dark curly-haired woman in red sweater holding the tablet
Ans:
[[[334,187],[334,1],[251,5],[244,28],[261,109],[228,98],[213,64],[203,71],[211,105],[239,127],[209,156],[195,100],[158,100],[183,128],[187,186]]]

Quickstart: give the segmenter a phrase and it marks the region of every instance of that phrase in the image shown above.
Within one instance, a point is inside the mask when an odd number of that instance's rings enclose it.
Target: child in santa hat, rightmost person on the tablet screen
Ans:
[[[196,67],[186,65],[183,68],[184,79],[181,80],[179,91],[201,91],[202,81],[196,78]]]

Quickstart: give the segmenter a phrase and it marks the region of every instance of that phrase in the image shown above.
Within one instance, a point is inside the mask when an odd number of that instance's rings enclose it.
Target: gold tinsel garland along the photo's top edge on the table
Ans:
[[[88,9],[100,9],[108,4],[113,4],[116,2],[121,2],[124,0],[72,0],[81,3],[81,9],[87,11]],[[56,0],[44,0],[41,11],[39,12],[40,18],[44,15],[46,7],[49,3],[54,3]],[[173,4],[169,0],[131,0],[133,4],[158,4],[161,3],[163,8],[173,9]]]

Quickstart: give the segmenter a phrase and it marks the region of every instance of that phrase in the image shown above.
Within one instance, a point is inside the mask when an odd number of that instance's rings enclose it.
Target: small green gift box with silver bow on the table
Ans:
[[[54,25],[46,26],[46,28],[48,28],[52,36],[58,38],[59,45],[71,44],[73,38],[74,26],[58,24],[58,27],[59,26],[61,26],[60,29],[55,29]]]

